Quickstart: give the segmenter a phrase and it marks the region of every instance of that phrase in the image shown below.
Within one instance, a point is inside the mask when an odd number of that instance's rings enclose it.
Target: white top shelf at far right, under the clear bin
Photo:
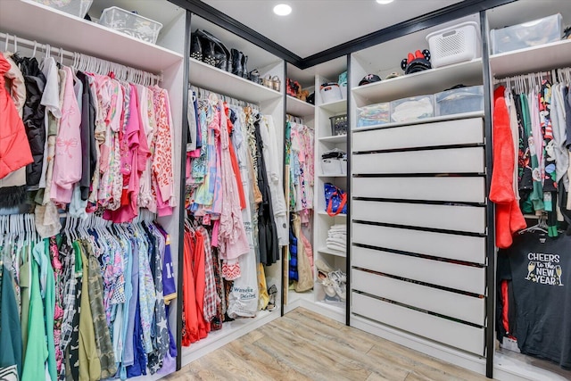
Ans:
[[[490,56],[490,68],[497,79],[569,65],[571,65],[571,40]]]

